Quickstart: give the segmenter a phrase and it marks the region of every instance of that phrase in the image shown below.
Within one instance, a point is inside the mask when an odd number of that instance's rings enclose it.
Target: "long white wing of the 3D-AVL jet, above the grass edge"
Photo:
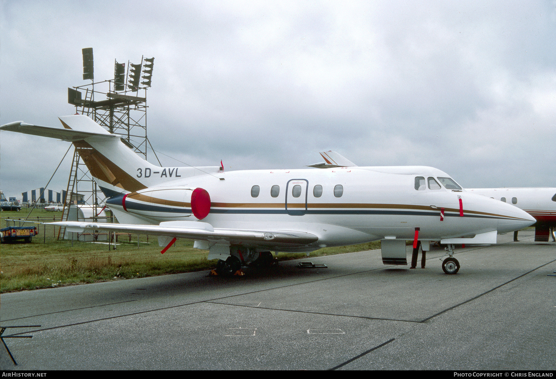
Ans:
[[[135,225],[101,222],[62,221],[49,222],[48,225],[66,227],[69,232],[81,233],[85,230],[106,230],[152,236],[189,238],[191,240],[226,241],[230,243],[249,243],[263,246],[294,247],[316,242],[315,235],[297,231],[250,231],[214,228],[207,222],[166,221],[160,225]]]

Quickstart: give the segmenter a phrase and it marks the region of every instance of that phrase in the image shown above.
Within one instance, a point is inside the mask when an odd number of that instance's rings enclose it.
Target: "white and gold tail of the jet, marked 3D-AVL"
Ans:
[[[72,142],[106,197],[140,191],[156,184],[220,172],[220,166],[159,167],[147,162],[118,134],[111,134],[91,118],[76,114],[59,117],[63,129],[12,122],[0,130]],[[131,147],[131,148],[130,148]]]

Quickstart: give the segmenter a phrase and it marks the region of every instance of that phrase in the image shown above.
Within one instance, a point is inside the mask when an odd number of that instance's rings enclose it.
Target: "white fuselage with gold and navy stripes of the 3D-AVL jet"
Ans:
[[[449,176],[425,166],[231,171],[166,181],[112,197],[107,204],[120,222],[126,215],[153,225],[196,221],[192,208],[198,205],[191,194],[202,188],[210,195],[203,222],[318,237],[300,251],[384,238],[411,240],[416,227],[420,240],[438,241],[530,225],[527,215],[500,201],[440,185],[418,189],[420,177],[438,184],[439,177]]]

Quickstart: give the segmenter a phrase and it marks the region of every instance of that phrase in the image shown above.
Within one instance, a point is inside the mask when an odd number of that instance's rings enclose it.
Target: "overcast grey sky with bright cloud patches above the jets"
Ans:
[[[92,47],[95,81],[155,57],[148,137],[188,164],[302,168],[333,150],[468,188],[556,186],[554,1],[1,4],[0,124],[61,126]],[[68,147],[0,133],[0,189],[44,186]]]

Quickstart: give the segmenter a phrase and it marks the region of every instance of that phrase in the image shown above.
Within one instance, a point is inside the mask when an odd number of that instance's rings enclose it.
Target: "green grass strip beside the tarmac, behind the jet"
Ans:
[[[6,226],[6,218],[24,219],[27,213],[25,209],[21,212],[1,212],[1,226]],[[44,217],[52,221],[53,217],[59,219],[60,216],[61,212],[33,210],[29,220],[36,221],[39,217],[43,221]],[[190,240],[177,240],[162,255],[162,248],[158,246],[155,236],[131,235],[131,242],[128,235],[119,236],[116,249],[108,250],[108,245],[103,243],[57,240],[57,227],[39,225],[38,229],[38,236],[33,237],[31,243],[21,241],[0,244],[0,293],[211,270],[216,267],[216,260],[207,260],[209,252],[193,248],[193,241]],[[378,248],[380,241],[327,247],[311,252],[309,259]],[[291,260],[306,255],[278,253],[276,257],[279,260]]]

